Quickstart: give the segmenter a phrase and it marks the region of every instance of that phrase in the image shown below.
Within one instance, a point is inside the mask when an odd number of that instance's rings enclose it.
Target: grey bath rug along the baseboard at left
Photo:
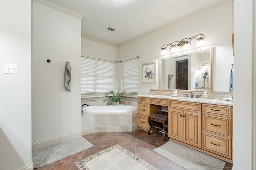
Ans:
[[[54,145],[32,150],[34,168],[39,168],[93,147],[83,137],[70,139]]]

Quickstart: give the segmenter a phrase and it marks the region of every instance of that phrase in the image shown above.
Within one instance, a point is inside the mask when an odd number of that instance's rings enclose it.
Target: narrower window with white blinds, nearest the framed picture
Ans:
[[[122,62],[122,93],[138,94],[138,59]]]

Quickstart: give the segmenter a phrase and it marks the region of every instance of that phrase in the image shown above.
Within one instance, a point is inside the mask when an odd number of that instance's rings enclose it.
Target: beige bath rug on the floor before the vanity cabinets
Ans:
[[[223,170],[226,164],[220,159],[174,141],[168,141],[153,151],[186,170]]]

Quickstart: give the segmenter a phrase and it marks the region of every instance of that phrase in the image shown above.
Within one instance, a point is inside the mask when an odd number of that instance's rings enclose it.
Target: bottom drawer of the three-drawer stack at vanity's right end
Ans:
[[[232,157],[231,152],[231,139],[225,137],[218,137],[203,132],[202,149],[214,152],[221,156],[230,158]]]

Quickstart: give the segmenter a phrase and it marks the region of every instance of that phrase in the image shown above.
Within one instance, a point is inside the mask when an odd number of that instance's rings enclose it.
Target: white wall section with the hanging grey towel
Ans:
[[[81,20],[33,2],[32,143],[81,135],[80,56]],[[64,87],[66,61],[71,92]]]

